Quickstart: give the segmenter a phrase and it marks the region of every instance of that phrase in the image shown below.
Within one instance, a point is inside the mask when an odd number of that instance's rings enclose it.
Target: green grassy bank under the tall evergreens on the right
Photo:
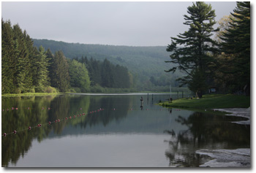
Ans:
[[[233,94],[208,94],[202,99],[177,99],[172,103],[162,102],[159,105],[187,109],[248,108],[250,107],[250,97]]]

